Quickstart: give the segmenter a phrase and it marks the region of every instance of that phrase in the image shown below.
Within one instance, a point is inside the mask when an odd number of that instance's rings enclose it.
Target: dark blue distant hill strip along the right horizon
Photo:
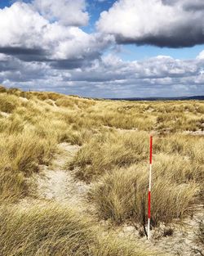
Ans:
[[[127,98],[110,98],[113,101],[204,101],[203,96],[190,97],[127,97]]]

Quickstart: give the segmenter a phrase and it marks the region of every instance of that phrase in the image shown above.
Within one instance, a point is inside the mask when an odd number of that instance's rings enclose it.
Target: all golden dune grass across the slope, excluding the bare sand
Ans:
[[[27,178],[38,172],[38,164],[49,162],[60,141],[82,145],[71,167],[79,167],[78,178],[95,182],[90,200],[97,205],[100,218],[143,224],[151,131],[156,132],[153,224],[184,218],[189,207],[202,200],[204,140],[181,132],[203,130],[203,102],[94,101],[52,92],[0,91],[0,200],[1,222],[6,225],[0,229],[3,255],[140,255],[134,246],[126,247],[116,238],[109,238],[107,248],[107,237],[100,240],[94,231],[91,238],[86,237],[94,227],[84,226],[83,221],[74,226],[78,218],[73,213],[70,222],[78,236],[68,244],[73,230],[63,228],[69,227],[65,220],[69,209],[57,206],[52,213],[53,206],[46,205],[28,213],[15,208],[16,201],[29,193]],[[49,228],[41,227],[59,213],[65,217]],[[81,232],[84,229],[86,234]],[[55,235],[53,230],[57,230]],[[22,234],[19,240],[15,233]],[[81,241],[84,247],[78,246]],[[100,243],[97,252],[95,243]]]

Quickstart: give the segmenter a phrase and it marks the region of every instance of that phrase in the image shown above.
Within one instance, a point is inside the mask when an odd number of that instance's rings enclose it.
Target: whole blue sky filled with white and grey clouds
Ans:
[[[0,83],[82,97],[204,95],[204,1],[0,0]]]

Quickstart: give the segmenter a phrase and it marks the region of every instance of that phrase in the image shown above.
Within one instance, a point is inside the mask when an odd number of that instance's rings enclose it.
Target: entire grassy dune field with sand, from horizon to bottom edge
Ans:
[[[204,255],[203,187],[204,101],[0,88],[1,256]]]

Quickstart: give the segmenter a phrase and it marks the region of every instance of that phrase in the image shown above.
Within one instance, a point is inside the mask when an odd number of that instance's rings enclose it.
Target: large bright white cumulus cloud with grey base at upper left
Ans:
[[[43,1],[47,2],[55,3]],[[69,4],[69,1],[64,2]],[[70,7],[75,7],[76,3],[82,4],[83,1],[70,3]],[[69,18],[75,24],[72,16]],[[98,57],[109,43],[109,37],[86,34],[82,29],[73,26],[73,23],[67,21],[66,24],[71,25],[62,25],[56,20],[51,22],[36,11],[32,4],[16,2],[11,7],[0,9],[0,52],[24,61],[82,62],[86,58]]]

